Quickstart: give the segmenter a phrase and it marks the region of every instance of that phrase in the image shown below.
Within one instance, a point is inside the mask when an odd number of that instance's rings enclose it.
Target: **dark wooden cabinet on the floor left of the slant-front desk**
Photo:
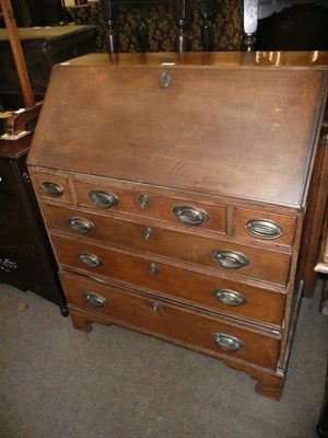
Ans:
[[[32,134],[0,140],[0,283],[31,290],[68,314],[58,268],[25,165]]]

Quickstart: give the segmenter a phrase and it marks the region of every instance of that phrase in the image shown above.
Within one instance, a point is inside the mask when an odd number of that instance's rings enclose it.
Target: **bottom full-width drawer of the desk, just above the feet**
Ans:
[[[164,300],[105,286],[77,275],[60,275],[71,306],[112,321],[210,353],[274,369],[280,341],[273,335],[229,320],[187,310]],[[92,320],[92,314],[91,314]]]

